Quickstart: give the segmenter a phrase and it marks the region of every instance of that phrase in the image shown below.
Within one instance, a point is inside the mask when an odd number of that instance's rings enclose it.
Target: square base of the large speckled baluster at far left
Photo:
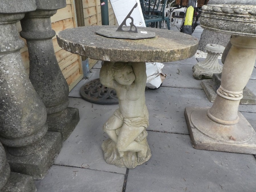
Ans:
[[[43,179],[52,166],[62,147],[61,134],[47,132],[40,143],[40,150],[27,156],[13,156],[6,150],[6,158],[11,171],[30,175],[33,179]]]

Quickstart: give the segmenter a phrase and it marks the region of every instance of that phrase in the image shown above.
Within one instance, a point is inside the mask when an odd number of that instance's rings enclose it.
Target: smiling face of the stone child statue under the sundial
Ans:
[[[125,65],[123,69],[116,71],[114,79],[121,85],[131,85],[135,80],[132,66]]]

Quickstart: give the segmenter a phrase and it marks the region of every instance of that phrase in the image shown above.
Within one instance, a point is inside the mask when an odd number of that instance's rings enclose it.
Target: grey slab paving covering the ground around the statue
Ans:
[[[200,38],[201,32],[198,28],[193,35]],[[80,86],[99,76],[101,65],[96,64],[90,79],[81,80],[69,94],[69,106],[79,108],[80,121],[63,143],[49,173],[43,180],[35,181],[38,191],[256,191],[253,155],[197,150],[191,145],[185,107],[212,106],[201,81],[192,77],[192,66],[197,62],[191,57],[165,63],[163,73],[167,76],[162,87],[146,89],[152,157],[135,169],[117,168],[103,159],[101,144],[108,136],[102,125],[118,105],[92,104],[80,98]],[[254,94],[255,74],[256,68],[247,84]],[[256,106],[240,105],[239,111],[256,129]]]

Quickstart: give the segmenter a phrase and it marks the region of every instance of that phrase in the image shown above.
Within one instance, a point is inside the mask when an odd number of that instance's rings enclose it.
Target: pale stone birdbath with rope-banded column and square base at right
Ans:
[[[256,3],[210,0],[202,10],[203,28],[233,35],[213,106],[185,108],[193,147],[256,154],[256,133],[238,112],[243,88],[251,76],[256,59]]]

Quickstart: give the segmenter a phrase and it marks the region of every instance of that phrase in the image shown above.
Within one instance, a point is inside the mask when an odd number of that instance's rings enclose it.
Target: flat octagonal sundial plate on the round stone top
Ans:
[[[96,31],[96,34],[109,37],[109,38],[119,38],[119,39],[146,39],[146,38],[154,38],[156,33],[150,31],[144,31],[141,29],[137,29],[137,33],[131,32],[119,32],[116,31],[117,28],[105,28]]]

